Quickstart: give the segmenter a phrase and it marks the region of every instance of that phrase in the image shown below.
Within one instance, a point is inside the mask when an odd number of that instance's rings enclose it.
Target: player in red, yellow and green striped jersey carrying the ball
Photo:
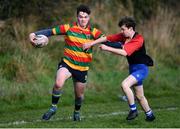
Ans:
[[[102,32],[90,24],[90,9],[86,5],[77,8],[77,21],[62,24],[50,29],[43,29],[29,35],[34,45],[36,35],[63,35],[65,39],[64,56],[60,61],[55,83],[52,90],[52,104],[49,110],[42,116],[43,120],[49,120],[57,111],[57,104],[62,95],[62,88],[66,80],[72,77],[75,93],[75,107],[73,120],[80,121],[80,108],[84,99],[89,65],[92,61],[92,48],[83,50],[82,45],[103,36]]]

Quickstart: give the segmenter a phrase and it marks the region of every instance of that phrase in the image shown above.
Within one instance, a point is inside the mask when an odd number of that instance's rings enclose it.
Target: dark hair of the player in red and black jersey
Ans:
[[[133,30],[135,30],[136,22],[135,22],[134,18],[125,16],[119,21],[118,25],[119,25],[119,27],[121,27],[123,25],[125,25],[127,28],[132,27]]]

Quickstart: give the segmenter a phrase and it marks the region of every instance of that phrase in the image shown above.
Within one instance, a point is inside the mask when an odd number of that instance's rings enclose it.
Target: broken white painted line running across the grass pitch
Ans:
[[[173,110],[177,110],[178,107],[169,107],[169,108],[159,108],[159,109],[154,109],[154,111],[159,112],[159,111],[173,111]],[[142,113],[143,111],[140,110],[139,113]],[[128,114],[128,112],[126,111],[119,111],[119,112],[111,112],[111,113],[107,113],[107,114],[96,114],[96,117],[106,117],[106,116],[117,116],[117,115],[126,115]],[[89,116],[81,116],[81,118],[94,118],[94,115],[89,115]],[[66,117],[66,118],[56,118],[56,119],[52,119],[49,121],[60,121],[60,120],[64,120],[64,119],[72,119],[72,117]],[[30,123],[38,123],[38,122],[44,122],[44,120],[33,120],[33,121],[14,121],[14,122],[8,122],[8,123],[0,123],[0,126],[11,126],[11,125],[22,125],[22,124],[30,124]]]

